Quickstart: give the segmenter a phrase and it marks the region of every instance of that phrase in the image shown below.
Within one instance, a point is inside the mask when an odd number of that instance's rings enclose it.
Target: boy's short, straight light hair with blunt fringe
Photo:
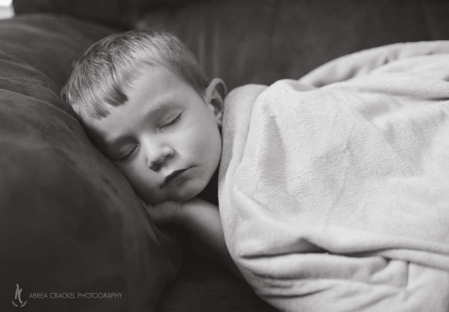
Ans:
[[[77,58],[61,97],[81,120],[104,118],[110,112],[107,104],[120,106],[128,101],[124,88],[146,65],[165,67],[201,95],[208,86],[195,56],[177,37],[163,31],[131,30],[101,39]]]

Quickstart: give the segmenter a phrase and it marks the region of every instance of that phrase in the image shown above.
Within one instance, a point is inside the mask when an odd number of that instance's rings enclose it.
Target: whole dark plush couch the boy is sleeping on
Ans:
[[[275,311],[192,251],[183,229],[154,226],[59,97],[71,62],[96,40],[133,28],[168,30],[230,90],[298,79],[374,46],[449,39],[443,0],[13,5],[15,17],[0,20],[0,311]]]

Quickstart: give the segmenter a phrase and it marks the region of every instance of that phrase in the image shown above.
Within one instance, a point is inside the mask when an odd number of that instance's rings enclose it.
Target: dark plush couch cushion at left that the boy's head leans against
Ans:
[[[180,267],[171,232],[59,97],[72,60],[111,32],[50,15],[0,21],[0,311],[16,309],[16,284],[29,311],[153,311]]]

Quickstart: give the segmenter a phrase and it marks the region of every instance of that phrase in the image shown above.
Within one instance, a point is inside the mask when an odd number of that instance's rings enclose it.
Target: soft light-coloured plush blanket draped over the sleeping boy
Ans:
[[[449,311],[449,41],[345,56],[225,101],[230,254],[281,311]]]

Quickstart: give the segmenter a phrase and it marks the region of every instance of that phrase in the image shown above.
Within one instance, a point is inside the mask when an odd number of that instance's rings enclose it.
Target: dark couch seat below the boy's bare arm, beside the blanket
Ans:
[[[175,281],[162,296],[158,312],[276,312],[249,284],[237,279],[214,260],[193,252],[198,242],[184,242],[183,263]],[[212,253],[212,251],[211,251]]]

